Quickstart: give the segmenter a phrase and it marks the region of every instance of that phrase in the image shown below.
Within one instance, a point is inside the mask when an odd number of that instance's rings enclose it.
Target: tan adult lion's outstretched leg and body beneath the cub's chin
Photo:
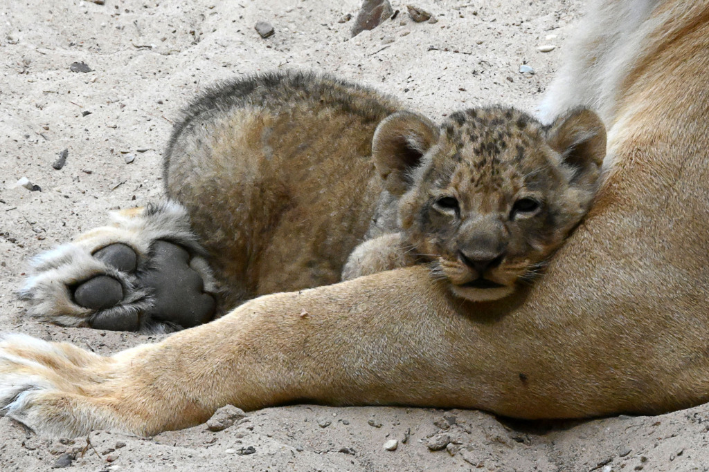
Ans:
[[[9,413],[54,434],[147,434],[193,425],[225,403],[303,398],[520,418],[706,401],[709,6],[599,3],[608,21],[589,22],[596,35],[577,49],[586,67],[567,73],[569,84],[614,91],[600,104],[608,172],[586,224],[535,287],[461,304],[411,267],[262,297],[112,357],[12,336],[0,363]]]

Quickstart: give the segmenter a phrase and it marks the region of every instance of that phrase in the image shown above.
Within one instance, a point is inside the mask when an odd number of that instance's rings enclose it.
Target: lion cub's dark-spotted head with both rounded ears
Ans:
[[[509,108],[454,113],[440,127],[403,112],[379,125],[373,149],[399,196],[404,243],[454,294],[488,301],[537,275],[584,217],[605,129],[589,110],[549,127]]]

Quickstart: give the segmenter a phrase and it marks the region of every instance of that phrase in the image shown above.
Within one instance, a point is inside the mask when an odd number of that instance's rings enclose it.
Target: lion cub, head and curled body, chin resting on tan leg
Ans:
[[[369,88],[291,71],[191,103],[164,183],[188,209],[228,307],[418,262],[484,300],[535,275],[578,224],[604,151],[588,110],[550,127],[501,107],[435,125]],[[443,197],[459,207],[440,208]],[[531,212],[515,209],[523,198]]]

